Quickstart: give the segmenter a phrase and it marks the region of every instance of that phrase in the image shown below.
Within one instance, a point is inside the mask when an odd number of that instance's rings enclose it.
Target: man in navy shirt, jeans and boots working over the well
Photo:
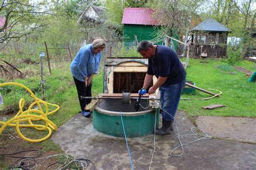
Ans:
[[[138,44],[137,51],[145,59],[149,59],[147,74],[143,89],[147,89],[153,75],[157,77],[156,83],[149,88],[149,94],[160,91],[160,103],[163,109],[163,127],[156,131],[158,135],[170,134],[173,130],[173,120],[176,114],[180,95],[186,82],[186,72],[178,55],[169,47],[153,45],[149,41]]]

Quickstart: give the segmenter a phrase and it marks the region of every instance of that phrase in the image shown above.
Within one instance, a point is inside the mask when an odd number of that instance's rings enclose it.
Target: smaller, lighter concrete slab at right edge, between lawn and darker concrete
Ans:
[[[196,122],[215,138],[256,144],[256,118],[199,116]]]

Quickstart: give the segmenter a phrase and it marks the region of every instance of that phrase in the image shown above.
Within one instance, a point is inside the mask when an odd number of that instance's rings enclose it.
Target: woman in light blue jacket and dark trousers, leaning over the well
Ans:
[[[71,62],[71,74],[76,84],[81,113],[90,117],[91,112],[85,112],[86,104],[91,99],[81,99],[80,96],[91,97],[92,77],[98,73],[102,51],[106,47],[103,39],[96,39],[79,49],[75,59]]]

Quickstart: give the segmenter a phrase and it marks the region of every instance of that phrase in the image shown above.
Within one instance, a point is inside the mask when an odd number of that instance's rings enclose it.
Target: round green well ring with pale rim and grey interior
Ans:
[[[124,137],[124,130],[120,112],[122,114],[126,137],[140,137],[152,134],[156,121],[156,128],[159,125],[159,108],[134,109],[136,100],[131,104],[122,104],[120,99],[102,100],[98,107],[93,110],[93,127],[102,133],[116,137]],[[141,100],[140,104],[146,107],[147,100]]]

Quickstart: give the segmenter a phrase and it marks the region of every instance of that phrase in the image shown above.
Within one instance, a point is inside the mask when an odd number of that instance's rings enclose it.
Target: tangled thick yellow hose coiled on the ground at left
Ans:
[[[0,124],[2,124],[2,127],[0,128],[0,134],[2,134],[2,132],[3,132],[3,130],[5,129],[6,126],[15,126],[19,137],[21,137],[22,139],[24,139],[26,141],[40,142],[40,141],[43,141],[45,139],[48,139],[51,136],[51,133],[52,133],[51,129],[57,130],[57,126],[48,119],[48,116],[52,115],[53,113],[58,111],[59,106],[56,105],[56,104],[51,104],[51,103],[47,103],[45,101],[42,101],[41,99],[37,98],[28,87],[26,87],[26,86],[24,86],[23,84],[20,84],[20,83],[13,83],[13,82],[2,83],[2,84],[0,84],[0,87],[8,86],[8,85],[19,86],[19,87],[22,87],[22,88],[28,90],[31,97],[33,97],[35,99],[35,102],[31,103],[28,110],[24,111],[23,107],[25,105],[25,100],[24,100],[24,98],[21,98],[21,100],[19,100],[19,111],[18,111],[17,115],[15,117],[11,118],[7,122],[1,122],[0,121]],[[41,107],[41,104],[44,105],[45,112],[43,111],[43,109]],[[32,107],[34,105],[37,105],[38,110],[32,109]],[[53,105],[53,106],[56,107],[56,109],[49,112],[48,105]],[[38,114],[38,115],[35,115],[35,113]],[[45,121],[45,125],[34,124],[36,121]],[[22,124],[19,124],[20,122],[22,122]],[[28,122],[29,124],[25,124],[24,122]],[[29,139],[29,138],[26,138],[21,133],[21,130],[19,130],[20,127],[22,127],[22,128],[34,128],[34,129],[39,130],[39,131],[43,131],[43,130],[47,129],[48,134],[45,137],[41,138],[41,139]]]

